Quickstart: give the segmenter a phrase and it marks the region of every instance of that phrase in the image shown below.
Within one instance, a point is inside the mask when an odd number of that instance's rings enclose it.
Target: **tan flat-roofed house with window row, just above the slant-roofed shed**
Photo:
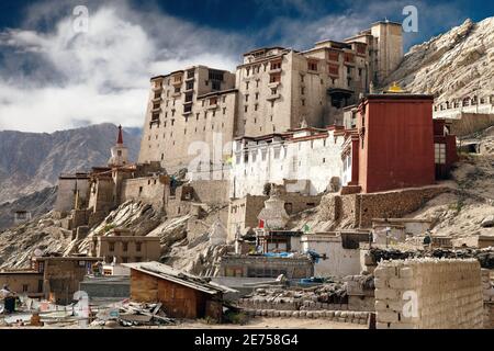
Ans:
[[[130,263],[159,260],[161,247],[158,237],[136,236],[128,229],[112,229],[108,236],[96,236],[90,254],[105,262]]]

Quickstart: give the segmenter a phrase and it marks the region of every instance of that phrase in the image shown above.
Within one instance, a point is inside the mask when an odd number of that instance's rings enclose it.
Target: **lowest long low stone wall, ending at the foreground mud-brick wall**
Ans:
[[[339,322],[367,325],[370,313],[352,310],[278,310],[278,309],[246,309],[251,317],[268,318],[300,318],[300,319],[326,319]]]

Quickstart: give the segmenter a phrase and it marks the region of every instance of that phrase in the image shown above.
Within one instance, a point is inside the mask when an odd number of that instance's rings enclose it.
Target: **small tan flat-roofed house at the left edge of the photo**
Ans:
[[[33,270],[8,270],[0,272],[0,287],[7,285],[18,295],[43,297],[43,273]]]

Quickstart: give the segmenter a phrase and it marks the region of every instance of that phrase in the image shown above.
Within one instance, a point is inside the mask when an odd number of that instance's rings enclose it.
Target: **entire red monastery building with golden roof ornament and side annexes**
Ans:
[[[456,136],[433,120],[433,95],[369,94],[343,148],[344,185],[362,193],[434,184],[457,161]]]

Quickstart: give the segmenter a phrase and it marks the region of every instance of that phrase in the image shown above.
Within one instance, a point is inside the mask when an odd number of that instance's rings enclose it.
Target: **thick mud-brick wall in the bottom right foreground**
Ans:
[[[483,327],[483,290],[476,260],[384,261],[374,276],[378,329]]]

